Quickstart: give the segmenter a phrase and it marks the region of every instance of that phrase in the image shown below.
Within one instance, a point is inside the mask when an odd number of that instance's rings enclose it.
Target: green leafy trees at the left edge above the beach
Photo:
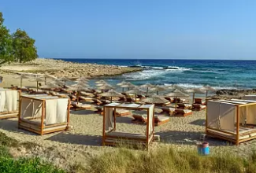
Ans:
[[[27,32],[20,28],[10,33],[0,12],[0,64],[12,61],[27,62],[37,57],[35,39],[30,38]]]

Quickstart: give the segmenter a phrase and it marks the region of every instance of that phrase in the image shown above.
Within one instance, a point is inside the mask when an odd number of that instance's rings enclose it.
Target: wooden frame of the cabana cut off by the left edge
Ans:
[[[12,110],[12,111],[3,111],[0,112],[0,120],[3,119],[9,119],[9,118],[17,118],[18,114],[19,114],[19,101],[20,101],[20,95],[21,95],[21,91],[20,90],[7,90],[7,89],[2,89],[0,91],[6,91],[6,92],[16,92],[17,91],[17,99],[15,98],[15,100],[17,100],[17,109],[16,110]],[[1,98],[0,98],[1,100]],[[1,106],[1,105],[0,105]]]

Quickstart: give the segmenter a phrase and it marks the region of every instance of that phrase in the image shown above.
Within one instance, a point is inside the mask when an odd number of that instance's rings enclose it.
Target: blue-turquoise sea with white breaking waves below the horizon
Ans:
[[[109,83],[122,80],[135,85],[176,84],[184,88],[213,86],[215,89],[256,88],[256,61],[240,60],[176,60],[176,59],[61,59],[78,63],[113,64],[141,67],[142,72],[106,77]]]

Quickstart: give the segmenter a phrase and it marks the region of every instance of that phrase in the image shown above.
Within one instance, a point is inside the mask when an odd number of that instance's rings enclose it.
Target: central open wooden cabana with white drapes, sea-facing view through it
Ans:
[[[147,111],[146,134],[133,134],[117,130],[117,109]],[[111,103],[103,107],[102,145],[118,145],[127,142],[144,145],[147,148],[154,139],[154,105]]]

